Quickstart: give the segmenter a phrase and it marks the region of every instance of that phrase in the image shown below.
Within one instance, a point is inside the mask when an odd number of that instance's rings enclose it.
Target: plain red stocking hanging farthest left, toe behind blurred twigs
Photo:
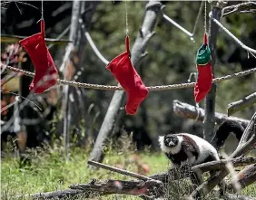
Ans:
[[[35,76],[29,90],[42,93],[57,82],[58,71],[44,42],[44,20],[41,20],[41,33],[36,33],[19,42],[34,64]]]

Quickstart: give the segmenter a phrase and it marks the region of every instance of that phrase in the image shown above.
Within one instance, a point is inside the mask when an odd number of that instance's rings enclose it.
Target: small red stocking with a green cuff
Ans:
[[[196,63],[198,78],[194,87],[194,100],[198,103],[205,98],[212,87],[211,51],[206,33],[204,33],[203,44],[197,52]]]

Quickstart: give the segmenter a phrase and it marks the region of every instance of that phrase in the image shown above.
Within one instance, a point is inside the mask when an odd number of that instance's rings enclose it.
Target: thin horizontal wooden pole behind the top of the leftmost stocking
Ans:
[[[11,34],[1,34],[1,43],[18,43],[20,40],[25,39],[26,36],[20,35],[11,35]],[[44,38],[45,43],[54,43],[54,44],[66,44],[73,43],[70,40],[65,39],[52,39],[52,38]]]

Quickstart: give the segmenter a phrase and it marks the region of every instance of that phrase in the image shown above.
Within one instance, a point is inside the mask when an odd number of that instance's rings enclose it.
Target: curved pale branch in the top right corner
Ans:
[[[248,14],[248,13],[256,13],[256,3],[254,2],[246,2],[238,5],[226,6],[222,9],[222,17],[227,16],[229,14]]]

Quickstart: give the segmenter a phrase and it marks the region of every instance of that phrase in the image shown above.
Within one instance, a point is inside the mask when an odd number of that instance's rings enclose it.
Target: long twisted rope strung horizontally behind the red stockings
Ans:
[[[21,72],[21,73],[25,74],[26,76],[34,77],[33,72],[20,70],[15,67],[7,66],[3,63],[1,63],[1,68],[7,68],[11,71]],[[241,71],[241,72],[233,73],[231,75],[222,76],[220,78],[215,78],[215,79],[213,79],[212,82],[221,82],[221,81],[231,80],[232,78],[246,76],[255,71],[256,71],[256,68],[252,68],[251,70],[248,70],[248,71]],[[58,79],[58,83],[64,84],[64,85],[70,85],[70,86],[74,86],[74,87],[94,89],[94,90],[123,90],[123,88],[119,87],[119,86],[98,85],[98,84],[82,83],[82,82],[76,82],[76,81],[65,81],[65,80],[60,80],[60,79]],[[147,87],[147,89],[152,90],[152,91],[178,90],[178,89],[184,89],[184,88],[193,88],[194,85],[195,85],[195,82],[190,82],[190,83],[180,83],[180,84],[172,84],[172,85],[150,86],[150,87]]]

